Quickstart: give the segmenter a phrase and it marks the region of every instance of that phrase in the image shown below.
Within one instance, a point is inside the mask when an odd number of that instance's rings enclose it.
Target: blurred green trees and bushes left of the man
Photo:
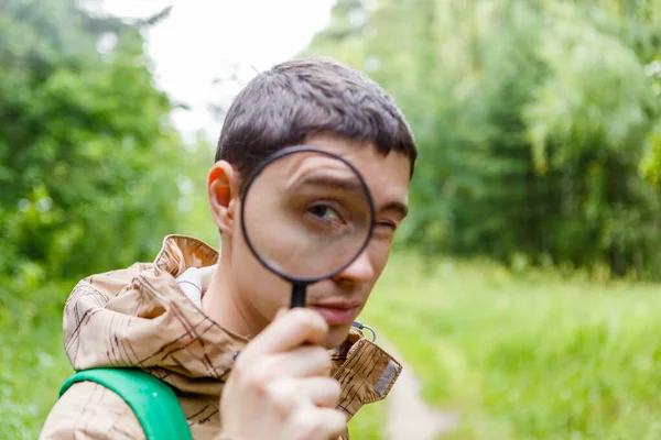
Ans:
[[[46,278],[151,260],[177,223],[183,143],[140,29],[75,3],[10,1],[0,11],[6,306]],[[115,44],[97,50],[101,40]]]

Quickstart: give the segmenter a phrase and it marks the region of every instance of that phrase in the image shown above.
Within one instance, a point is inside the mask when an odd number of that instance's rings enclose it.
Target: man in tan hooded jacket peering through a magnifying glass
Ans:
[[[348,267],[308,287],[306,308],[286,310],[291,286],[246,245],[240,197],[267,156],[299,144],[339,154],[361,173],[376,226]],[[355,70],[311,58],[258,75],[230,107],[208,173],[220,254],[173,235],[153,263],[83,279],[64,317],[74,369],[140,366],[153,374],[176,391],[195,440],[348,438],[348,419],[384,398],[401,371],[351,322],[407,215],[415,158],[404,117]],[[197,282],[184,279],[197,270]],[[182,283],[198,295],[185,295]],[[83,382],[55,405],[41,438],[144,435],[119,396]]]

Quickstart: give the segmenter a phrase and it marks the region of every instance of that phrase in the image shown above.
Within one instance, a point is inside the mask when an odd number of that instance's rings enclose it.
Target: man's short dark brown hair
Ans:
[[[373,143],[383,155],[403,153],[413,176],[418,148],[392,98],[328,57],[290,61],[253,78],[227,111],[216,162],[232,164],[245,182],[270,154],[321,133]]]

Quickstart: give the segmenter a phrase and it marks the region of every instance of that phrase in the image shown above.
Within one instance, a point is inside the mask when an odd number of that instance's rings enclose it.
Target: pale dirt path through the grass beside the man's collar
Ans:
[[[433,440],[455,429],[458,414],[435,409],[420,397],[420,383],[410,365],[403,362],[394,346],[380,339],[380,344],[403,364],[403,371],[388,395],[387,440]]]

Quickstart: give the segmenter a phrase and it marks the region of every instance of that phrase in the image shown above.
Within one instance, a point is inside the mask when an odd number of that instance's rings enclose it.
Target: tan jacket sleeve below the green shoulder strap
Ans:
[[[74,384],[57,400],[40,440],[147,440],[140,422],[121,397],[91,383]]]

